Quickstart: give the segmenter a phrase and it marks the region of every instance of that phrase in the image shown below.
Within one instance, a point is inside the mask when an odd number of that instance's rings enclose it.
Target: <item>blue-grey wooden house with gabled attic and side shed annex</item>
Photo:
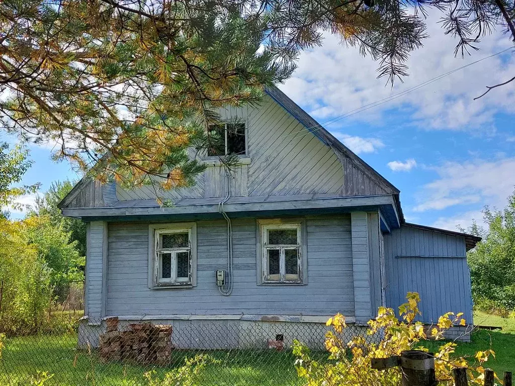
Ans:
[[[424,322],[450,310],[472,322],[477,237],[406,223],[399,190],[278,89],[223,114],[242,122],[226,137],[236,172],[206,155],[195,186],[165,193],[173,206],[87,179],[61,202],[88,224],[82,342],[113,316],[172,324],[174,339],[189,331],[183,347],[248,344],[249,323],[252,339],[310,336],[337,312],[364,325],[408,291]],[[209,341],[198,326],[231,337]]]

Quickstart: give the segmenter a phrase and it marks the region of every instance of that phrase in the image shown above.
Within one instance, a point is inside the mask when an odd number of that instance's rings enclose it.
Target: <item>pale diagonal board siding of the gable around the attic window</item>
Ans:
[[[289,196],[317,193],[341,195],[344,169],[331,147],[270,97],[261,107],[232,108],[221,111],[222,119],[243,119],[247,125],[247,160],[230,177],[231,195]],[[209,163],[209,161],[207,161]],[[168,199],[224,197],[226,173],[209,164],[197,177],[197,184],[163,193]],[[131,191],[117,187],[119,200],[155,198],[150,186]]]

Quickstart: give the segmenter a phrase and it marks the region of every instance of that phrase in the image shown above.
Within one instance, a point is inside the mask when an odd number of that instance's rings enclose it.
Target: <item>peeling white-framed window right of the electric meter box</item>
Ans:
[[[259,284],[307,284],[305,221],[258,221]]]

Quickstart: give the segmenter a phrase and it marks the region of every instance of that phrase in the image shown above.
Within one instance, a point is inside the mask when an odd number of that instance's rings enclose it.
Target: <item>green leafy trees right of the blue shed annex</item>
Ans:
[[[471,232],[483,240],[468,253],[476,307],[515,310],[515,192],[503,210],[484,210],[488,230],[476,224]]]

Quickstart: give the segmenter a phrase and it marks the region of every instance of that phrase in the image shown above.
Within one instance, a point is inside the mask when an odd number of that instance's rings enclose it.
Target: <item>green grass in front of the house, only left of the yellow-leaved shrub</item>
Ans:
[[[144,385],[146,371],[153,369],[162,376],[173,368],[102,363],[96,355],[76,350],[74,335],[11,338],[5,343],[0,360],[0,383],[7,379],[14,386],[25,386],[37,371],[54,374],[45,386]],[[294,386],[301,383],[294,367],[295,357],[290,352],[210,350],[205,353],[218,363],[204,368],[198,379],[201,385]],[[194,354],[175,350],[173,363],[181,366],[185,357]]]

